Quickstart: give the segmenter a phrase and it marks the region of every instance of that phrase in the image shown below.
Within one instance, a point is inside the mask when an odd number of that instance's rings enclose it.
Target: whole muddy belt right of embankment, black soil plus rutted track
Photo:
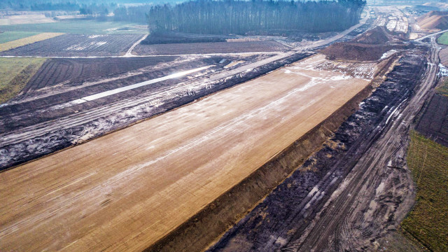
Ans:
[[[421,64],[424,66],[425,60],[418,56],[423,52],[412,53],[416,55],[409,53],[400,60],[401,65],[395,66],[388,80],[339,128],[329,144],[281,183],[210,251],[357,251],[369,246],[387,230],[385,227],[396,223],[412,196],[412,190],[407,191],[409,174],[400,168],[401,148],[409,128],[406,124],[412,111],[418,111],[422,95],[437,73],[437,66],[429,64],[425,83],[418,85],[416,80],[423,78]],[[419,90],[410,101],[418,104],[409,102],[416,85]],[[412,113],[405,116],[409,111]],[[389,163],[395,154],[398,158]],[[395,174],[398,182],[389,179],[388,174]],[[390,188],[393,193],[383,195]],[[371,213],[364,216],[369,209]],[[401,215],[393,216],[391,209]],[[386,223],[377,221],[379,216],[387,216],[383,218]],[[348,218],[357,220],[354,227]]]

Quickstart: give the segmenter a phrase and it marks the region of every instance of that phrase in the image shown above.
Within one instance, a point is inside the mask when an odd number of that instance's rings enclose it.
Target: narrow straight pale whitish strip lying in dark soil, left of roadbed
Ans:
[[[190,74],[190,73],[195,73],[197,71],[202,71],[202,70],[208,69],[211,66],[214,66],[214,65],[202,66],[202,67],[197,68],[197,69],[192,69],[192,70],[188,70],[188,71],[181,71],[179,73],[170,74],[169,76],[155,78],[153,80],[146,80],[146,81],[141,82],[141,83],[128,85],[126,87],[119,87],[119,88],[116,88],[114,90],[108,90],[108,91],[100,92],[98,94],[92,94],[92,95],[89,95],[89,96],[86,96],[86,97],[81,97],[80,99],[73,100],[71,102],[67,102],[66,104],[59,105],[59,107],[66,107],[66,106],[71,106],[71,105],[74,105],[74,104],[82,104],[84,102],[94,101],[96,99],[100,99],[100,98],[103,98],[103,97],[108,97],[109,95],[118,94],[120,92],[125,92],[127,90],[132,90],[132,89],[137,88],[137,87],[143,87],[143,86],[150,85],[150,84],[153,84],[153,83],[158,83],[158,82],[163,81],[163,80],[169,80],[169,79],[172,79],[172,78],[179,78],[179,77],[182,77],[182,76],[186,76],[187,74]],[[66,106],[64,106],[64,105],[66,105]]]

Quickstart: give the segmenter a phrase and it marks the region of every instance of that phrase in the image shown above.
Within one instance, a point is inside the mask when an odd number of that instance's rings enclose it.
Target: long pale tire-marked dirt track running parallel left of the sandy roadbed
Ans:
[[[41,136],[48,132],[56,130],[64,130],[70,127],[83,125],[97,118],[109,116],[122,109],[129,108],[132,106],[139,106],[139,104],[143,104],[141,106],[146,106],[146,104],[148,103],[158,104],[160,102],[163,102],[164,98],[172,97],[173,94],[185,90],[195,90],[195,88],[200,86],[211,85],[214,82],[219,82],[219,80],[223,78],[233,76],[243,71],[248,71],[248,69],[253,69],[263,64],[268,64],[270,62],[283,59],[284,57],[288,57],[290,55],[292,55],[292,52],[283,53],[283,55],[275,55],[274,57],[269,57],[267,59],[260,60],[259,62],[239,66],[237,69],[212,73],[210,76],[208,76],[209,78],[207,79],[188,80],[186,82],[176,84],[172,87],[167,87],[165,90],[162,90],[160,92],[151,93],[151,95],[145,98],[125,99],[122,101],[118,101],[115,104],[109,104],[109,106],[103,106],[102,108],[92,109],[90,111],[82,111],[76,114],[71,114],[64,118],[59,118],[58,120],[52,120],[49,122],[39,123],[37,125],[25,127],[21,130],[17,130],[16,132],[8,132],[5,134],[1,134],[0,146],[6,146],[8,144],[18,143],[26,139],[32,139],[34,137]],[[55,109],[57,109],[57,107],[55,107]]]

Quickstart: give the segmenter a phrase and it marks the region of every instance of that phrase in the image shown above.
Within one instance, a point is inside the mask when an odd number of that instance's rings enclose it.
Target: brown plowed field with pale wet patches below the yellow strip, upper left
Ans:
[[[142,35],[65,34],[1,52],[3,56],[118,56],[125,55]]]

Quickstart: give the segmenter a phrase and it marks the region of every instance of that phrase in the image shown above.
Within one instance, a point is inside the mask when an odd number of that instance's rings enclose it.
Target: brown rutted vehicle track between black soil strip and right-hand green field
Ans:
[[[334,197],[330,198],[325,208],[319,213],[319,218],[314,220],[316,224],[310,230],[309,235],[302,236],[304,242],[294,246],[296,251],[333,249],[336,251],[361,251],[370,244],[370,240],[365,241],[365,238],[368,237],[374,241],[383,236],[387,229],[396,228],[407,211],[410,210],[412,204],[409,203],[412,203],[414,188],[412,179],[408,176],[409,172],[405,168],[404,157],[410,123],[428,98],[431,87],[436,83],[438,49],[435,47],[434,41],[431,49],[431,55],[428,57],[428,69],[421,83],[416,87],[414,96],[409,97],[394,109],[393,113],[386,118],[384,127],[374,132],[372,140],[376,141],[371,141],[372,146],[353,167],[343,185],[337,188],[337,193],[332,195]],[[400,169],[400,172],[396,172],[396,169]],[[394,187],[393,182],[390,181],[393,179],[400,181],[395,183],[397,187]],[[391,184],[391,187],[380,188],[381,183]],[[407,186],[411,190],[408,190]],[[377,223],[373,218],[368,220],[369,211],[376,210],[375,207],[370,206],[372,201],[377,200],[377,204],[386,204],[378,199],[379,194],[386,196],[391,193],[387,189],[394,190],[392,193],[402,190],[401,193],[395,195],[397,197],[392,197],[400,199],[400,201],[393,202],[393,206],[388,209],[387,214],[377,213],[376,217],[381,214],[382,217],[386,217],[386,223],[381,223],[379,218],[375,220]],[[379,208],[381,206],[377,206],[378,211],[381,211]],[[367,215],[356,219],[355,216],[365,209],[368,209]],[[354,223],[353,219],[355,219]],[[372,226],[362,227],[365,225],[365,221],[370,221]],[[379,225],[379,223],[383,225]],[[367,235],[368,232],[371,232],[371,235]]]

